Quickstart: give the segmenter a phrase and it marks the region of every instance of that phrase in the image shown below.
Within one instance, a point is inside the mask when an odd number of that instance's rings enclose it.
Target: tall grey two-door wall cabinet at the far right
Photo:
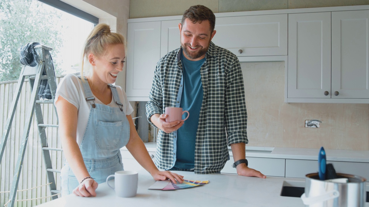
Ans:
[[[287,102],[369,102],[369,10],[288,18]]]

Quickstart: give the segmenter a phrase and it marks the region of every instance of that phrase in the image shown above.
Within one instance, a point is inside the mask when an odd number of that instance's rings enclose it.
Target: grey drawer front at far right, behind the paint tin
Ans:
[[[334,166],[337,173],[359,175],[369,178],[369,163],[327,161]],[[317,160],[286,159],[286,177],[305,178],[309,173],[318,172]]]

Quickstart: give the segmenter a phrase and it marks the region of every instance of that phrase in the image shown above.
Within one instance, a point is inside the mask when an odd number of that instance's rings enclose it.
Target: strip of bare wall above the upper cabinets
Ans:
[[[192,5],[202,4],[214,13],[288,8],[335,7],[369,4],[369,0],[132,0],[130,18],[182,15]]]

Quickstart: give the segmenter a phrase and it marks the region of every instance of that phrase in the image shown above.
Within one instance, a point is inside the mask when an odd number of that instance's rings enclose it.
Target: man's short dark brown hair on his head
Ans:
[[[215,15],[210,8],[203,5],[191,6],[183,13],[181,24],[183,25],[184,20],[188,18],[193,24],[196,22],[201,23],[204,20],[208,20],[210,23],[211,32],[214,31],[215,27]]]

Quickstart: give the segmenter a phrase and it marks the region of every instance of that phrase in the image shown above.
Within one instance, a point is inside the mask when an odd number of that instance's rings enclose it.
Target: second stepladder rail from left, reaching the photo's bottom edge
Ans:
[[[44,64],[45,64],[44,62],[41,62],[38,65],[38,71],[37,71],[37,74],[35,76],[35,81],[34,81],[34,84],[36,84],[36,87],[33,87],[33,89],[32,89],[32,94],[31,94],[31,97],[30,97],[30,103],[28,105],[29,108],[27,110],[28,111],[28,114],[26,116],[27,119],[26,119],[26,122],[24,124],[25,127],[24,127],[24,131],[23,131],[23,136],[22,136],[22,144],[21,144],[19,152],[18,152],[17,164],[15,165],[13,182],[12,182],[10,195],[9,195],[10,207],[14,206],[15,196],[17,194],[19,177],[20,177],[20,173],[21,173],[21,169],[22,169],[22,165],[23,165],[25,149],[27,147],[28,135],[30,133],[31,123],[32,123],[32,116],[33,116],[34,108],[35,108],[35,105],[36,105],[36,97],[38,95],[37,92],[38,92],[38,89],[39,89],[39,85],[40,85],[40,81],[41,81],[40,77],[42,76],[42,69],[44,68]]]

